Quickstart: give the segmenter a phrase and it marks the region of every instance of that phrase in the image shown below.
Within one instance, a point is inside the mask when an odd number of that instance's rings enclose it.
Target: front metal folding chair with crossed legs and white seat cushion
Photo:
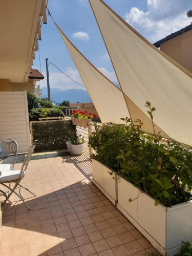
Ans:
[[[27,169],[27,166],[29,164],[29,161],[31,159],[34,149],[35,149],[35,146],[33,146],[30,149],[30,151],[28,152],[28,154],[23,162],[22,169],[20,169],[20,170],[10,170],[10,169],[9,170],[0,170],[0,184],[10,190],[10,193],[8,195],[6,195],[5,192],[0,189],[0,193],[2,193],[6,197],[6,200],[3,202],[2,206],[7,201],[9,201],[10,196],[12,195],[12,193],[14,193],[15,195],[17,195],[17,197],[19,197],[24,202],[26,207],[30,210],[30,207],[28,206],[28,204],[25,202],[24,198],[20,194],[20,189],[24,188],[24,189],[28,190],[34,196],[35,196],[35,194],[33,194],[28,188],[20,185],[19,182],[25,176],[26,169]],[[6,183],[9,183],[9,186]],[[13,188],[11,188],[11,186],[10,186],[12,183],[15,183]],[[16,188],[19,188],[19,194],[15,191]]]

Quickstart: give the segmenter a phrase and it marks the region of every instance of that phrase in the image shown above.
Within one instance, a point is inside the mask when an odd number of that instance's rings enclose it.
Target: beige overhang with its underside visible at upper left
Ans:
[[[47,0],[6,0],[0,8],[0,79],[24,82],[33,65]]]

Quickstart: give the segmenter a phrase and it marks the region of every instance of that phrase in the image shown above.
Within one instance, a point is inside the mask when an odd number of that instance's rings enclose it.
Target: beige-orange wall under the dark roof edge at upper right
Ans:
[[[192,72],[192,30],[163,42],[160,49]]]

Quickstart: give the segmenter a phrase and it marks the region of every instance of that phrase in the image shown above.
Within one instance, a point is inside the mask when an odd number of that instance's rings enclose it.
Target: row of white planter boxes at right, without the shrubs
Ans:
[[[177,255],[182,241],[192,241],[192,201],[173,207],[155,205],[152,197],[109,172],[93,160],[93,183],[161,254]]]

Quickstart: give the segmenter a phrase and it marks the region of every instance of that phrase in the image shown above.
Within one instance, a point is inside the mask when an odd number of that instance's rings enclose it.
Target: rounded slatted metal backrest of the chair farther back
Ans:
[[[0,146],[2,148],[2,152],[8,152],[8,153],[13,154],[15,156],[12,167],[11,167],[11,169],[13,169],[16,158],[17,158],[17,151],[18,151],[17,142],[15,140],[12,140],[12,139],[4,139],[4,140],[0,141]]]

